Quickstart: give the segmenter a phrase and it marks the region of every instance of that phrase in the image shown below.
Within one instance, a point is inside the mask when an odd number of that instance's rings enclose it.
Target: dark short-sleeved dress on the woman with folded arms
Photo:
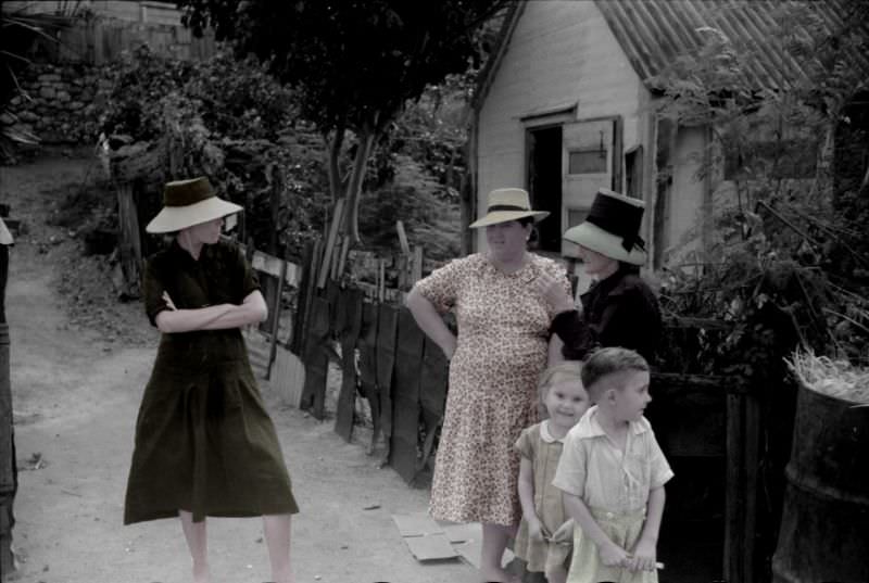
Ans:
[[[237,245],[203,245],[199,259],[177,241],[146,264],[151,324],[168,306],[240,304],[259,289]],[[239,328],[164,333],[136,422],[124,523],[206,516],[294,514],[290,477]]]

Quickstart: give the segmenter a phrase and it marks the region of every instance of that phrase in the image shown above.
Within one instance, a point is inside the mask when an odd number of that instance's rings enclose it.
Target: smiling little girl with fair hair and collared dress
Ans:
[[[581,366],[572,360],[543,371],[539,385],[549,419],[522,430],[516,441],[521,454],[522,520],[514,552],[527,562],[528,571],[544,572],[550,583],[565,583],[570,563],[574,521],[567,520],[562,492],[552,486],[552,478],[558,467],[565,435],[589,407],[580,377]]]

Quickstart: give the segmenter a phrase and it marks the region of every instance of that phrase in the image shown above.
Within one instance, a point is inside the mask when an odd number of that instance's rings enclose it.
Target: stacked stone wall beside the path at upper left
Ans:
[[[18,79],[22,93],[0,124],[32,132],[43,144],[96,144],[101,104],[112,89],[108,68],[34,63]]]

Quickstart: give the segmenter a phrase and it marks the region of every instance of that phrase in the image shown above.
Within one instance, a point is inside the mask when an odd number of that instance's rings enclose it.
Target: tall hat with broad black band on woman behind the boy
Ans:
[[[644,210],[641,200],[601,189],[584,223],[567,229],[564,239],[612,259],[644,265],[645,243],[640,237]]]

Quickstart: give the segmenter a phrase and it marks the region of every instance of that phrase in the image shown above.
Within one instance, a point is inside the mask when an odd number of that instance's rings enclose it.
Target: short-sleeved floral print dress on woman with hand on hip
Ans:
[[[538,420],[537,381],[554,316],[533,280],[549,273],[570,289],[563,267],[529,256],[519,270],[504,274],[476,253],[416,284],[439,312],[454,309],[458,326],[431,484],[437,519],[514,525],[521,517],[513,445]]]

